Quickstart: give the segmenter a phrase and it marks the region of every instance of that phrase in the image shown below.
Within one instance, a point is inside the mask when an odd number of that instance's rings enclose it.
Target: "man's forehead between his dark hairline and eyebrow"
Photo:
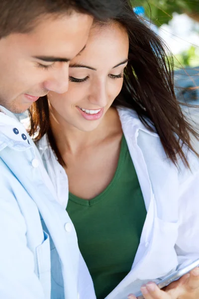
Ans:
[[[63,19],[54,21],[55,26],[52,31],[46,29],[48,24],[45,24],[43,32],[38,30],[38,27],[27,33],[11,33],[6,37],[6,42],[2,42],[1,39],[4,52],[9,48],[9,52],[14,56],[25,55],[45,62],[69,62],[84,51],[91,22],[89,20],[86,26],[84,24],[80,26],[79,20],[79,26],[74,29],[67,26],[65,20],[63,23]],[[82,27],[84,28],[81,29]]]

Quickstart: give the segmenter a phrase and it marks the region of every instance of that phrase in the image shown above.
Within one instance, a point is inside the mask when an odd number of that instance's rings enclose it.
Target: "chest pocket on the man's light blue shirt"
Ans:
[[[50,259],[50,241],[49,235],[43,231],[44,241],[36,248],[36,257],[38,265],[38,276],[39,280],[44,288],[44,292],[49,293],[51,285],[51,259]],[[45,294],[46,294],[45,292]],[[48,294],[49,295],[49,294]],[[46,296],[49,298],[49,296]]]

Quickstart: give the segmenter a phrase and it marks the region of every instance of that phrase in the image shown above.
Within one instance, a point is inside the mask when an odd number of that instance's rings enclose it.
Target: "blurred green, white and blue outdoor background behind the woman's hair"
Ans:
[[[177,99],[199,130],[199,0],[133,0],[134,11],[168,45]],[[199,143],[196,142],[199,150]]]

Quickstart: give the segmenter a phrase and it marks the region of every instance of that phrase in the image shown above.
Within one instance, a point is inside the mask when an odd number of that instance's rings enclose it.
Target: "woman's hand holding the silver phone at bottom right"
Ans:
[[[160,290],[155,283],[147,283],[141,287],[144,299],[199,299],[199,268]],[[129,295],[128,299],[136,299]],[[138,298],[139,299],[139,298]]]

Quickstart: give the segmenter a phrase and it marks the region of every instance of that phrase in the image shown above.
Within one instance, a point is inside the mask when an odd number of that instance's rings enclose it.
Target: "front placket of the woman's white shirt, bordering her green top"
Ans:
[[[130,273],[121,281],[121,283],[113,290],[113,296],[111,293],[107,296],[107,299],[115,298],[116,293],[120,295],[122,290],[124,290],[128,285],[132,284],[133,281],[137,280],[139,277],[139,272],[144,267],[144,261],[147,258],[148,254],[150,253],[151,249],[151,240],[153,232],[153,219],[155,214],[155,200],[154,194],[152,191],[151,182],[149,179],[149,174],[146,166],[146,162],[144,160],[143,153],[140,147],[137,144],[137,137],[139,134],[139,129],[136,126],[130,128],[131,134],[126,132],[129,128],[123,128],[123,133],[128,145],[128,149],[133,160],[136,173],[138,176],[138,180],[140,183],[140,187],[143,193],[146,209],[147,209],[147,216],[144,223],[144,227],[142,230],[140,244],[138,246],[138,250],[132,265],[132,269]],[[118,297],[119,298],[119,297]]]

